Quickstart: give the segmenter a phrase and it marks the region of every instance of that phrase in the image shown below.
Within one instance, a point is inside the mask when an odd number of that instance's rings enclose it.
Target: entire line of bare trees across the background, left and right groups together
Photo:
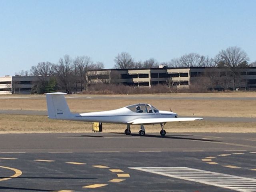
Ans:
[[[157,68],[159,65],[167,67],[223,67],[226,69],[226,74],[214,72],[209,69],[205,74],[208,77],[208,81],[212,84],[220,84],[219,82],[225,81],[228,76],[232,80],[233,88],[236,87],[238,81],[240,81],[239,68],[248,66],[256,66],[256,62],[248,63],[249,58],[239,47],[229,47],[226,50],[221,50],[214,58],[203,56],[196,53],[185,54],[180,58],[174,58],[169,62],[157,62],[154,58],[150,58],[145,61],[135,61],[134,58],[127,52],[121,52],[115,59],[114,68],[128,69],[128,68]],[[88,70],[103,69],[104,64],[102,62],[93,62],[88,56],[77,56],[72,59],[69,55],[64,55],[59,59],[57,64],[51,62],[40,62],[36,66],[32,66],[30,71],[20,71],[22,76],[38,76],[39,82],[36,84],[32,92],[44,93],[51,92],[57,88],[60,90],[66,90],[70,92],[71,87],[75,91],[87,90],[87,72]],[[50,81],[46,81],[46,78],[50,78]],[[111,74],[111,83],[118,77],[115,74]],[[106,81],[106,82],[105,82]],[[204,82],[208,82],[204,80]],[[214,81],[214,83],[213,83]],[[104,79],[103,83],[109,83],[110,80]],[[166,81],[167,86],[173,87],[174,83],[172,79]],[[212,85],[211,85],[212,86]]]

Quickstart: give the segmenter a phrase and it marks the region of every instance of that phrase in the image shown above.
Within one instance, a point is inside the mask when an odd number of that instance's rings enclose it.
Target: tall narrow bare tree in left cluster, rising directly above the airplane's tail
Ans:
[[[56,67],[58,84],[69,94],[72,86],[72,60],[69,55],[64,55],[59,59]]]

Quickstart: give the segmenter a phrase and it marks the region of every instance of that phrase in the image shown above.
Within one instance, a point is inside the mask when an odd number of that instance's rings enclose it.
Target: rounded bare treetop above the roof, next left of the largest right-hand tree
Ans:
[[[180,57],[180,65],[182,67],[198,67],[202,66],[204,61],[204,56],[197,53],[185,54]]]

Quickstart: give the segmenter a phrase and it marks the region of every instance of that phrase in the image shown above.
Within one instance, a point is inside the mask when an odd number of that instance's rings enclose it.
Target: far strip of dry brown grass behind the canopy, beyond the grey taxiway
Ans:
[[[114,97],[114,96],[113,96]],[[158,99],[137,98],[68,98],[68,105],[74,112],[94,112],[113,110],[135,103],[149,103],[161,110],[169,110],[183,116],[223,116],[223,117],[256,117],[256,100],[191,100],[191,99]],[[42,110],[46,111],[45,97],[33,99],[0,99],[2,110]]]

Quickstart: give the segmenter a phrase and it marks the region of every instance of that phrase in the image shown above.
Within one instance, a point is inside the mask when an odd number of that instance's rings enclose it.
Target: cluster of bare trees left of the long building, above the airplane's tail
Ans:
[[[77,56],[72,59],[64,55],[57,64],[51,62],[40,62],[32,66],[29,71],[21,71],[16,74],[22,76],[38,76],[38,83],[33,88],[34,93],[51,92],[57,88],[70,93],[75,85],[76,92],[87,88],[86,74],[88,70],[104,68],[102,62],[94,63],[88,56]],[[47,79],[50,77],[50,80]]]

